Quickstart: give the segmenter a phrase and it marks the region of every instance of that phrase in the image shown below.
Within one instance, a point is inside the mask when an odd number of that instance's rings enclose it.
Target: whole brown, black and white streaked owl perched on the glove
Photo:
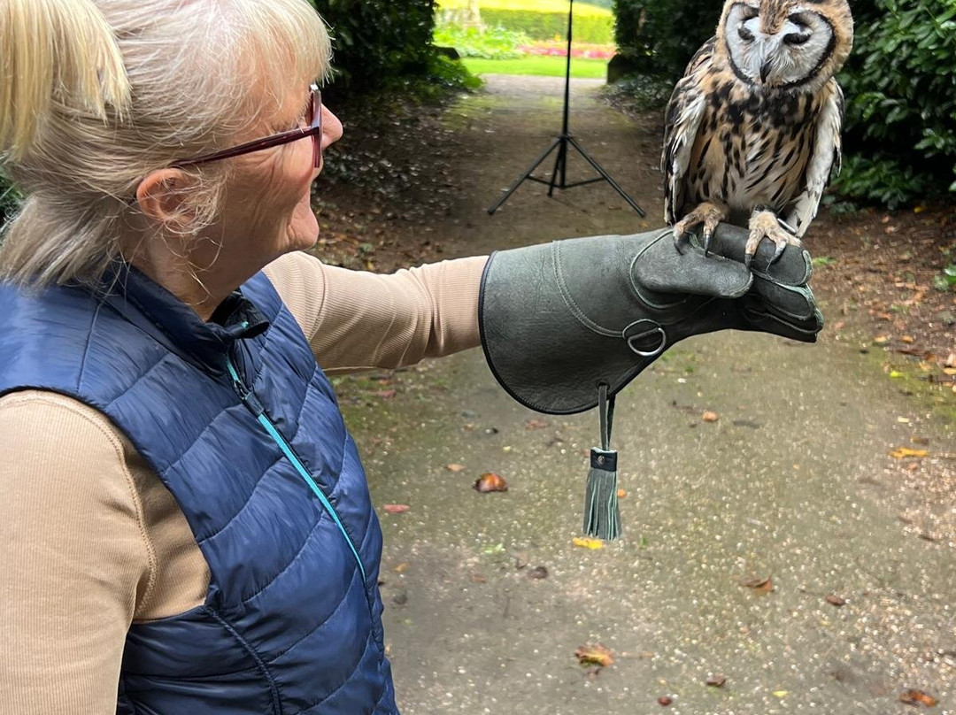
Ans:
[[[717,34],[690,60],[667,105],[664,220],[680,249],[690,227],[747,222],[747,262],[769,238],[799,246],[840,164],[853,47],[846,0],[727,0]]]

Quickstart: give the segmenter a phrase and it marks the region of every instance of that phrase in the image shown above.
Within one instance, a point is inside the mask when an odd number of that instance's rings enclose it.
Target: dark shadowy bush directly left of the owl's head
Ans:
[[[614,0],[620,54],[641,73],[676,82],[694,53],[716,32],[714,0]]]

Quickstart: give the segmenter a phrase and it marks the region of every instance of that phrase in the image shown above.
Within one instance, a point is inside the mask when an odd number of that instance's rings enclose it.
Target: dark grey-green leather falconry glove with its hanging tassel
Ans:
[[[497,251],[482,277],[479,323],[491,372],[538,412],[599,405],[585,532],[619,535],[614,396],[685,337],[734,329],[815,342],[823,327],[807,286],[810,255],[793,246],[773,260],[763,242],[745,267],[748,231],[721,224],[709,255],[698,236],[679,252],[663,228]]]

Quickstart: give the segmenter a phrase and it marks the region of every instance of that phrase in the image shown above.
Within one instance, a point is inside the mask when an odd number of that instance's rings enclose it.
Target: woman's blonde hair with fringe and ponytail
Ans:
[[[0,159],[26,199],[0,278],[98,284],[146,174],[236,143],[330,54],[306,0],[3,0]],[[188,173],[198,231],[228,162]]]

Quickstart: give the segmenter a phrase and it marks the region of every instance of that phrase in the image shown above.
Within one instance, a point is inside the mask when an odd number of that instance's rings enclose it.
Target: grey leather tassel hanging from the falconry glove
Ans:
[[[584,491],[584,533],[604,541],[621,535],[618,506],[618,452],[611,449],[614,423],[614,396],[607,396],[607,385],[598,388],[600,448],[591,449],[591,468]]]

